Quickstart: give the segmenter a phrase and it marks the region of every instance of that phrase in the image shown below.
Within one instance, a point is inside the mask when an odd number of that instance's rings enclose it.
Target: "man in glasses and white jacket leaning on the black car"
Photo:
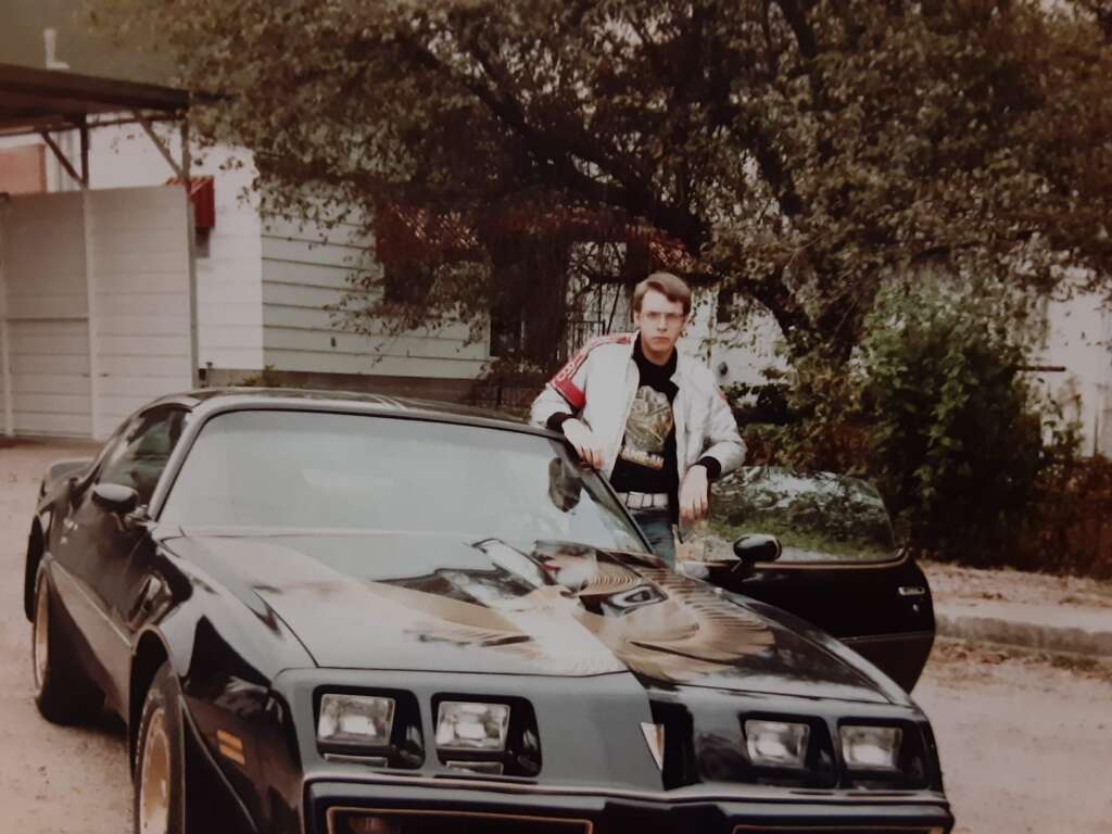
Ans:
[[[610,484],[654,550],[675,564],[673,525],[707,512],[709,484],[735,469],[745,444],[711,371],[676,341],[692,291],[655,272],[634,289],[636,332],[595,339],[533,403],[535,425],[563,431]]]

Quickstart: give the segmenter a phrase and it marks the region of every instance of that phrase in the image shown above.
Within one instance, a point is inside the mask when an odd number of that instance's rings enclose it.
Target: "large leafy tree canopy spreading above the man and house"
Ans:
[[[1112,271],[1103,0],[90,2],[176,51],[218,97],[202,133],[251,148],[280,207],[319,209],[311,182],[424,218],[406,325],[559,314],[569,242],[637,269],[663,245],[841,364],[887,276]]]

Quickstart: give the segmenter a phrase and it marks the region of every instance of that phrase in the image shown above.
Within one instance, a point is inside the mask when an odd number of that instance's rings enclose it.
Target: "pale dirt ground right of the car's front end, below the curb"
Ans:
[[[940,641],[913,697],[955,834],[1112,834],[1112,668]]]

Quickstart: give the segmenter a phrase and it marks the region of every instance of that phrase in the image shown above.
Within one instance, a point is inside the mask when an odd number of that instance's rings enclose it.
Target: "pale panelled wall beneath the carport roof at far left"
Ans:
[[[188,206],[166,186],[18,196],[0,210],[0,430],[103,438],[190,387]]]

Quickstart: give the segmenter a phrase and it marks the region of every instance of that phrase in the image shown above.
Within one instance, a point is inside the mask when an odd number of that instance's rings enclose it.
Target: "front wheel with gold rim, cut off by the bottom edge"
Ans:
[[[133,780],[135,834],[185,834],[186,759],[177,681],[168,664],[142,705]]]

